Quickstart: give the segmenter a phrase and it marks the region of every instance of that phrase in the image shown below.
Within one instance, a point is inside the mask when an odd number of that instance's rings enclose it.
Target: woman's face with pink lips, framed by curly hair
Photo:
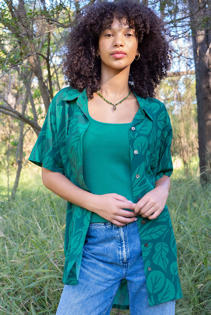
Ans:
[[[101,66],[113,69],[130,67],[138,55],[138,41],[135,29],[130,28],[125,19],[120,22],[114,18],[110,28],[99,37],[97,54],[101,59]]]

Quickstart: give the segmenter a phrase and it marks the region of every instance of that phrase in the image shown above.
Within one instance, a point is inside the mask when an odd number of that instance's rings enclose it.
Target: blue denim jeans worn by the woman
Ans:
[[[78,285],[64,285],[56,315],[109,315],[122,279],[130,315],[175,315],[175,300],[148,304],[137,222],[89,225]]]

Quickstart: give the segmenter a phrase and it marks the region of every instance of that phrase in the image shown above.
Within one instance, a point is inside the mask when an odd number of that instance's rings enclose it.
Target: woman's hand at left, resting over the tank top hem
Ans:
[[[137,220],[134,211],[124,210],[124,208],[133,210],[135,206],[136,203],[116,193],[93,195],[91,211],[113,224],[124,226]]]

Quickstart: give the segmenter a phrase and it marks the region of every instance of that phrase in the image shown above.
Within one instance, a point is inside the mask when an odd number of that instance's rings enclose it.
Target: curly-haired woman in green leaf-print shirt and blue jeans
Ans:
[[[172,128],[154,89],[167,75],[165,27],[134,1],[77,16],[63,72],[30,155],[67,200],[65,284],[57,315],[175,314],[181,298],[166,200]]]

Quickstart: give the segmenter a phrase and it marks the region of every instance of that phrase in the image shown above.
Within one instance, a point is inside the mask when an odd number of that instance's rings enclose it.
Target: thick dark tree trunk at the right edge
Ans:
[[[207,1],[210,5],[211,1]],[[211,181],[211,57],[210,57],[210,30],[196,26],[196,21],[210,20],[209,8],[202,8],[196,15],[199,2],[189,0],[189,9],[192,17],[192,42],[196,69],[196,99],[198,113],[198,142],[199,167],[201,183]]]

